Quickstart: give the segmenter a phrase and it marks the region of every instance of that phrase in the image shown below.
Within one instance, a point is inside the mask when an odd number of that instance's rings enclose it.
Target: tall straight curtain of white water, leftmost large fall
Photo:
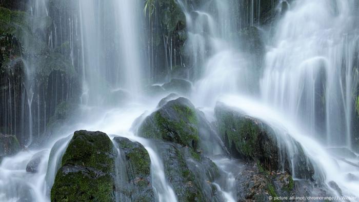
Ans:
[[[143,82],[139,49],[141,1],[78,1],[83,104],[99,104],[106,91],[134,94]]]

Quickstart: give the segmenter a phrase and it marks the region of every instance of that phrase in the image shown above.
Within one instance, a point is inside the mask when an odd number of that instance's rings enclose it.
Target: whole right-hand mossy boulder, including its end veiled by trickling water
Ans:
[[[277,134],[262,120],[223,103],[217,103],[215,116],[222,140],[233,156],[258,161],[268,171],[286,170],[297,178],[313,180],[310,159],[290,135]]]

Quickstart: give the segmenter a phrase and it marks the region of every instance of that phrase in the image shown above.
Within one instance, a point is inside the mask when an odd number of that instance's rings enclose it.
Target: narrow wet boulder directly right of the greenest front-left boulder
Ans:
[[[154,201],[151,159],[147,150],[125,137],[115,137],[114,142],[119,149],[119,157],[116,158],[116,194],[131,201]]]

